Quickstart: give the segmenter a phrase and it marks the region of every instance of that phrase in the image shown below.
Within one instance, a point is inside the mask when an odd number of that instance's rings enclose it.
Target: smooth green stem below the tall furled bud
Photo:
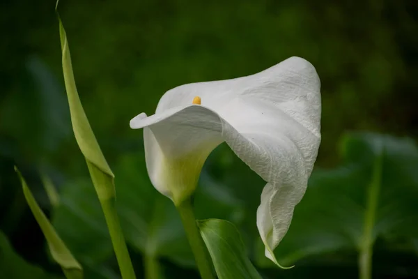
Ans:
[[[118,214],[114,198],[100,200],[104,218],[106,219],[107,227],[109,229],[111,243],[114,246],[116,259],[118,260],[119,269],[123,279],[135,279],[134,267],[130,260],[129,252],[123,237],[121,225],[119,224]]]

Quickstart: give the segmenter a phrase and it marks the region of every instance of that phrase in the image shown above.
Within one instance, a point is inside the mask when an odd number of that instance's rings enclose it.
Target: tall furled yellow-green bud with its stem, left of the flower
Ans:
[[[55,8],[57,8],[57,6],[58,1],[56,2]],[[79,99],[74,75],[72,73],[67,36],[59,15],[58,19],[63,75],[68,103],[70,105],[72,130],[74,131],[77,144],[86,158],[88,172],[90,172],[93,186],[102,206],[104,218],[106,218],[107,227],[111,236],[111,243],[113,244],[116,259],[118,260],[121,276],[125,279],[134,279],[134,268],[127,250],[121,225],[119,224],[118,213],[115,206],[114,174],[111,172],[109,165],[107,165],[107,161],[95,139],[95,135],[93,134],[93,130],[91,130],[90,123],[88,123],[86,113],[84,112],[82,103]]]

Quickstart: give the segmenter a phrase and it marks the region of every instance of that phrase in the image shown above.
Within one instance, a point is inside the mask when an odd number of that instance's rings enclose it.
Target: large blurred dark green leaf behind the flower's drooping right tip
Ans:
[[[386,135],[350,134],[343,137],[341,151],[341,167],[312,174],[275,251],[281,262],[342,250],[357,252],[362,261],[364,255],[371,257],[378,238],[417,238],[416,144]]]

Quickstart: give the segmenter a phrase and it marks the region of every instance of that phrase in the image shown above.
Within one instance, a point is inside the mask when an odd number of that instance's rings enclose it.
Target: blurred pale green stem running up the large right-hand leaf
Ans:
[[[360,243],[359,247],[360,279],[371,279],[371,262],[374,242],[373,227],[375,225],[376,211],[378,209],[378,198],[382,180],[382,158],[382,155],[378,156],[373,165],[373,177],[369,186],[369,194],[366,201],[364,231],[362,235],[362,243]]]

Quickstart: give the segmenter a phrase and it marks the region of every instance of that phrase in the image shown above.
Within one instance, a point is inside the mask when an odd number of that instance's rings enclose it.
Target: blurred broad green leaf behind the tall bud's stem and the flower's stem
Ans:
[[[173,202],[151,185],[144,153],[121,156],[115,164],[118,215],[127,243],[144,257],[194,266],[194,258]],[[196,216],[242,220],[242,204],[203,176],[196,192]],[[82,259],[100,262],[111,252],[100,203],[87,179],[62,187],[52,222],[65,243]],[[83,237],[81,237],[81,235]]]

